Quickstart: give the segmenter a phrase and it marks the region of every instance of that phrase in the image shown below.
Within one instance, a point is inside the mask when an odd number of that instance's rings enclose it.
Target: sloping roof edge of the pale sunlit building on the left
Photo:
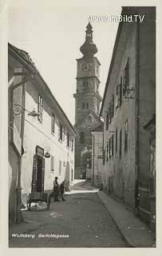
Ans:
[[[73,133],[77,136],[77,130],[73,127],[71,122],[69,122],[69,118],[66,116],[64,110],[62,110],[61,106],[58,104],[56,98],[54,98],[51,90],[49,90],[49,86],[47,86],[45,80],[41,77],[40,72],[38,71],[37,67],[34,65],[34,62],[30,58],[30,54],[28,54],[25,50],[20,50],[17,47],[11,45],[8,43],[9,51],[11,54],[14,55],[14,57],[17,57],[20,62],[22,62],[25,66],[26,69],[30,70],[33,74],[38,76],[41,82],[43,82],[45,86],[45,91],[51,96],[53,99],[53,102],[57,105],[57,108],[61,111],[61,114],[65,117],[66,122],[68,122],[70,128],[73,130]]]

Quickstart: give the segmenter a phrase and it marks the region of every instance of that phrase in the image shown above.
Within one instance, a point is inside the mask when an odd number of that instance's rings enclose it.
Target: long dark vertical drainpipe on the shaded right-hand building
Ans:
[[[139,127],[140,127],[140,92],[139,92],[139,20],[136,22],[136,101],[135,101],[135,132],[136,132],[136,173],[135,173],[135,214],[139,215],[139,182],[140,182],[140,166],[139,166]]]

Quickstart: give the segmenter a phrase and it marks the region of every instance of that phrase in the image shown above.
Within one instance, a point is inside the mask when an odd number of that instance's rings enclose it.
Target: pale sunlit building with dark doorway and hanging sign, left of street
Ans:
[[[69,190],[74,178],[74,143],[77,136],[61,106],[53,97],[29,54],[10,47],[10,63],[19,59],[21,69],[17,79],[23,85],[15,91],[14,122],[22,130],[21,174],[19,174],[22,203],[26,205],[28,194],[53,190],[53,180],[65,180]],[[21,91],[21,98],[19,101]],[[22,121],[17,121],[22,117]],[[18,125],[17,125],[18,126]]]

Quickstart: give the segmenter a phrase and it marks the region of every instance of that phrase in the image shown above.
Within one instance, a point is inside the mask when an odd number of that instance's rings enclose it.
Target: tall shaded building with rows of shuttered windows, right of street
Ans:
[[[155,7],[123,7],[105,86],[103,184],[149,220],[149,145],[144,124],[155,113]],[[143,16],[144,15],[144,16]]]

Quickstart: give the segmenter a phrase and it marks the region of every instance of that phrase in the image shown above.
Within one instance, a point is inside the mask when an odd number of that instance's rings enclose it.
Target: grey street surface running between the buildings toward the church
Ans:
[[[65,202],[52,201],[49,211],[23,211],[27,222],[40,225],[27,232],[17,229],[17,234],[34,234],[34,238],[10,237],[10,247],[127,247],[97,193],[85,190],[86,184],[82,189],[66,194]],[[39,238],[39,234],[65,234],[69,238]]]

